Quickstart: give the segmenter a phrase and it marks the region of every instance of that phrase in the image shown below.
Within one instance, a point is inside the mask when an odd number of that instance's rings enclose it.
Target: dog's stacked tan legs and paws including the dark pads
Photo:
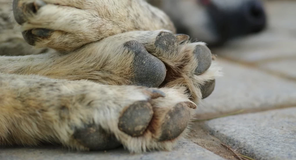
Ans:
[[[29,44],[54,50],[0,57],[0,145],[170,150],[219,75],[205,44],[146,1],[15,0],[13,11]]]

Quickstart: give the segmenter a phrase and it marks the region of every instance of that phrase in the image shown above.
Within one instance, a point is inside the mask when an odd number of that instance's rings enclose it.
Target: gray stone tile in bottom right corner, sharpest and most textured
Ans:
[[[296,107],[218,118],[211,134],[256,160],[296,159]]]

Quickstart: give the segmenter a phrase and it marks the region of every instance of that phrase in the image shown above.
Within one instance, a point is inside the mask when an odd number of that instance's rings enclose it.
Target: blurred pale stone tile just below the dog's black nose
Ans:
[[[235,39],[213,49],[212,53],[237,61],[258,62],[265,59],[296,57],[296,38],[287,33],[265,31]]]

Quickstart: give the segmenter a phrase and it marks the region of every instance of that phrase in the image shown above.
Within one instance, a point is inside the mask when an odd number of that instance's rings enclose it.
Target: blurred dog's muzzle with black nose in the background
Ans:
[[[210,47],[266,28],[266,12],[260,0],[148,0],[165,11],[178,33]]]

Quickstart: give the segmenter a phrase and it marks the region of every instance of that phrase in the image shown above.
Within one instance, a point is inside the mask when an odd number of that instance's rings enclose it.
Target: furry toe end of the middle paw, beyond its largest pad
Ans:
[[[211,51],[205,43],[190,43],[188,36],[174,35],[167,30],[135,31],[122,34],[123,37],[136,39],[149,54],[164,63],[166,75],[159,87],[186,87],[196,103],[213,92],[215,78],[221,73],[212,62]],[[150,65],[153,66],[153,63]]]

